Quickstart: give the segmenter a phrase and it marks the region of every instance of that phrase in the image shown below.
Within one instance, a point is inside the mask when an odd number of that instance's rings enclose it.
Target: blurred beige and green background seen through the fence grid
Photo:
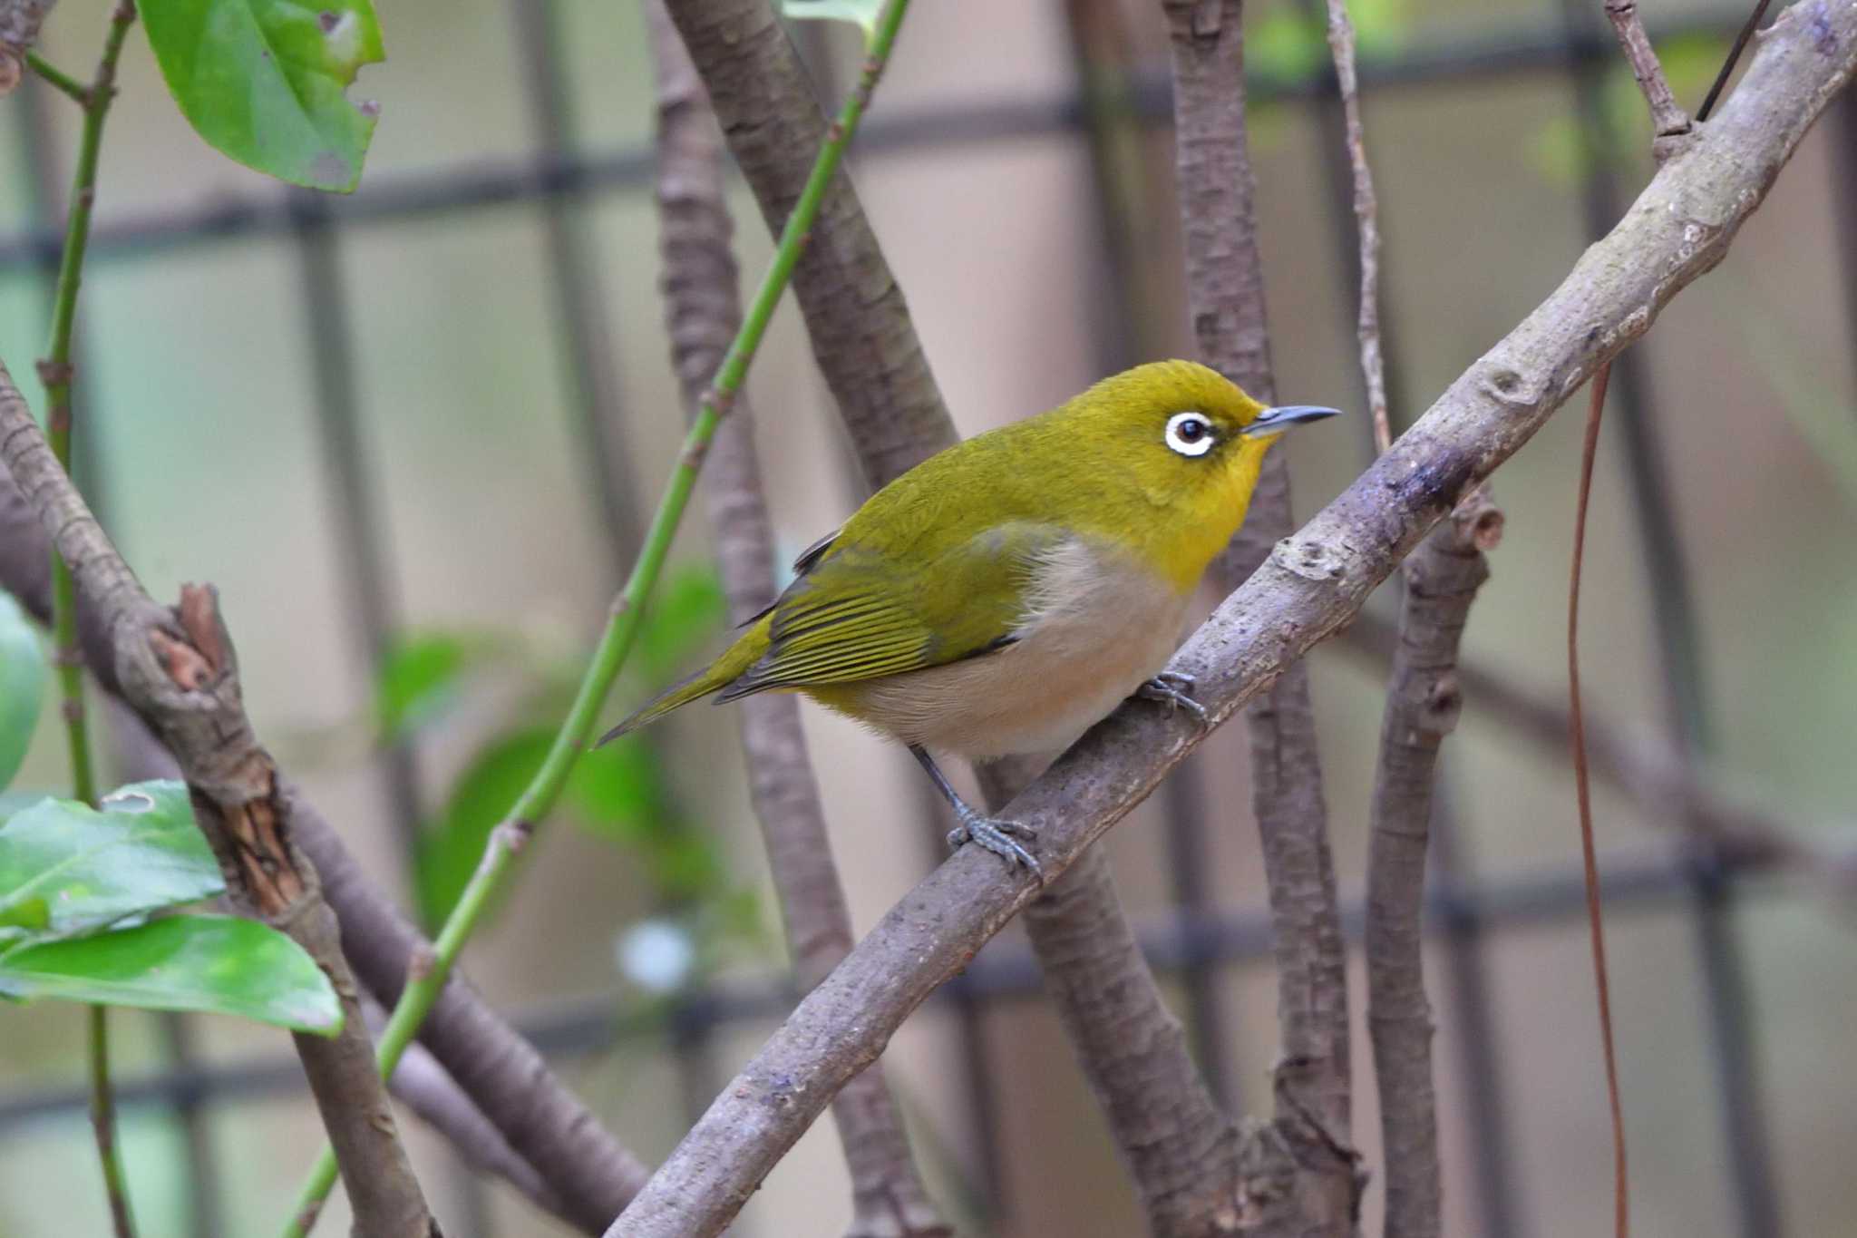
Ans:
[[[383,106],[357,206],[412,176],[522,167],[537,156],[540,134],[514,20],[522,4],[542,0],[407,0],[383,9],[388,61],[368,69],[355,89]],[[919,4],[869,134],[908,119],[912,130],[941,132],[945,141],[877,148],[873,139],[852,158],[964,432],[1047,408],[1114,368],[1105,340],[1118,332],[1140,356],[1188,347],[1164,124],[1123,126],[1110,152],[1118,193],[1131,204],[1120,278],[1107,262],[1090,145],[1079,130],[947,132],[951,115],[986,104],[1051,108],[1073,98],[1070,19],[1092,7],[1114,11],[1125,32],[1114,72],[1161,80],[1166,39],[1153,4]],[[1281,84],[1322,71],[1320,33],[1302,4],[1248,7],[1255,80]],[[1556,41],[1567,20],[1564,7],[1539,0],[1350,7],[1369,63]],[[1597,0],[1586,7],[1597,32]],[[102,0],[65,0],[46,28],[48,56],[85,71],[104,13]],[[652,72],[637,6],[563,0],[548,4],[546,17],[572,148],[644,152]],[[1708,32],[1733,30],[1742,13],[1714,0],[1671,0],[1645,6],[1645,17],[1653,32],[1707,30],[1660,41],[1679,98],[1694,106],[1727,46]],[[849,30],[808,32],[800,46],[823,84],[845,84],[854,71]],[[1616,176],[1627,195],[1619,206],[1649,174],[1642,102],[1610,45],[1597,46],[1601,69],[1582,87],[1564,65],[1539,63],[1367,91],[1396,425],[1422,412],[1567,271],[1588,239],[1582,193],[1591,173]],[[1578,89],[1612,137],[1595,145],[1582,135]],[[1844,187],[1851,184],[1840,180],[1838,160],[1857,158],[1850,108],[1835,106],[1721,267],[1677,299],[1636,349],[1703,637],[1710,772],[1829,843],[1848,837],[1857,804],[1857,555],[1850,553],[1857,271],[1838,262],[1837,232],[1850,226]],[[67,182],[76,115],[45,91],[0,100],[0,232],[13,238],[46,223],[35,213],[32,169],[50,165],[54,184]],[[1352,219],[1337,213],[1330,184],[1339,148],[1331,111],[1309,98],[1259,102],[1252,123],[1279,393],[1359,408],[1354,288],[1339,247]],[[193,137],[145,41],[132,35],[104,145],[100,228],[245,200],[286,197]],[[743,271],[752,278],[769,241],[739,186],[735,208]],[[568,199],[565,212],[587,245],[583,275],[607,317],[598,347],[617,382],[613,429],[624,447],[615,484],[633,510],[648,510],[682,425],[659,323],[650,189],[637,178],[609,178]],[[628,566],[602,525],[544,228],[533,200],[477,204],[360,219],[342,226],[327,251],[345,310],[362,483],[377,514],[366,535],[388,568],[396,614],[384,672],[371,666],[355,616],[355,564],[318,421],[325,401],[314,379],[316,323],[305,308],[299,241],[288,230],[139,249],[104,241],[85,278],[78,436],[108,527],[154,596],[173,596],[182,581],[219,587],[260,735],[381,882],[425,919],[455,893],[481,832],[533,763],[535,728],[559,715],[565,685]],[[46,304],[43,273],[30,264],[0,269],[0,356],[35,406],[43,403],[30,360],[45,345]],[[858,490],[791,304],[748,392],[780,536],[797,549],[839,522]],[[1588,535],[1588,705],[1660,737],[1669,707],[1653,574],[1616,414],[1612,431]],[[1465,637],[1478,663],[1549,696],[1564,692],[1578,434],[1578,416],[1564,414],[1497,475],[1508,533]],[[1307,514],[1365,464],[1365,427],[1330,423],[1298,436],[1291,458],[1298,510]],[[687,522],[676,587],[615,713],[713,648],[721,620],[706,553],[702,522]],[[1333,845],[1343,889],[1357,898],[1383,672],[1335,648],[1317,650],[1311,664]],[[46,709],[22,789],[65,781],[54,713]],[[923,820],[919,774],[904,754],[810,707],[806,726],[862,930],[934,863],[938,832]],[[386,791],[384,752],[396,739],[416,755],[412,848],[396,830]],[[689,1110],[773,1026],[754,1017],[674,1051],[667,999],[652,982],[752,982],[784,965],[734,718],[680,715],[652,744],[620,748],[591,767],[466,958],[470,976],[505,1010],[591,1000],[630,1028],[561,1069],[646,1160],[672,1147]],[[1460,863],[1474,878],[1571,870],[1573,787],[1560,759],[1521,744],[1474,698],[1447,752]],[[1211,820],[1213,909],[1255,909],[1263,885],[1242,735],[1216,735],[1196,767]],[[1597,811],[1612,863],[1675,854],[1673,820],[1647,820],[1604,789]],[[1109,843],[1131,913],[1157,924],[1172,906],[1161,815],[1159,800],[1144,806]],[[1850,1232],[1857,1208],[1846,1151],[1857,1136],[1844,1039],[1857,1002],[1851,926],[1807,882],[1755,878],[1740,889],[1746,896],[1733,904],[1731,922],[1755,1032],[1757,1121],[1772,1141],[1785,1232]],[[641,922],[656,924],[656,935],[637,935]],[[1008,932],[993,950],[1016,941]],[[1684,898],[1619,908],[1610,941],[1636,1231],[1736,1234],[1731,1149]],[[667,954],[665,943],[676,948]],[[676,958],[685,948],[689,958]],[[1435,963],[1448,1225],[1454,1234],[1495,1232],[1473,1190],[1473,1151],[1486,1136],[1467,1127],[1461,993],[1447,982],[1441,956]],[[659,976],[657,967],[669,971]],[[1599,1232],[1610,1212],[1610,1153],[1582,921],[1575,913],[1495,928],[1482,967],[1517,1232]],[[1356,980],[1359,1026],[1365,987]],[[1255,1106],[1276,1052],[1268,967],[1224,969],[1218,1004],[1239,1091]],[[7,1097],[80,1088],[80,1021],[78,1010],[52,1004],[0,1012],[0,1114]],[[188,1030],[204,1064],[249,1067],[288,1054],[280,1034],[256,1026],[189,1019]],[[119,1077],[171,1069],[171,1032],[154,1015],[121,1013]],[[1049,1006],[1036,997],[993,1002],[977,1034],[992,1080],[990,1115],[973,1112],[962,1019],[949,1006],[917,1013],[886,1058],[919,1158],[964,1232],[1138,1232],[1133,1193],[1112,1166]],[[1356,1140],[1376,1166],[1365,1036],[1356,1071]],[[986,1173],[975,1132],[986,1123],[1006,1149],[997,1212],[979,1203]],[[449,1234],[555,1232],[500,1186],[472,1186],[438,1140],[416,1121],[407,1127]],[[201,1219],[188,1203],[176,1119],[162,1106],[130,1104],[123,1130],[143,1232],[195,1232]],[[319,1138],[301,1091],[214,1103],[206,1141],[217,1162],[223,1232],[273,1229]],[[342,1232],[340,1192],[331,1212],[325,1232]],[[0,1125],[0,1232],[102,1232],[104,1216],[82,1110],[33,1110]],[[847,1218],[836,1136],[821,1123],[735,1232],[830,1234]],[[1374,1218],[1378,1186],[1369,1188],[1369,1225]]]

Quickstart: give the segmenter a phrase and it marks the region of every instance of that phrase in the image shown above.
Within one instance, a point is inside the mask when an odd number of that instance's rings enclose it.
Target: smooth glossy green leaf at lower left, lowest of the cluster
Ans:
[[[342,1002],[303,947],[258,921],[171,915],[150,924],[0,954],[0,993],[199,1010],[334,1036]]]

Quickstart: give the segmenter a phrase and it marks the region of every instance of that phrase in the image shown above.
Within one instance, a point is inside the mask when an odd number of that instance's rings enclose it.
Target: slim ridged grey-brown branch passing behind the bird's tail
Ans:
[[[722,191],[722,143],[702,82],[661,0],[646,0],[657,65],[657,210],[661,288],[672,364],[689,408],[702,399],[741,325],[730,249],[734,223]],[[734,622],[774,600],[774,540],[745,397],[717,431],[706,477],[709,523]],[[832,861],[825,807],[806,755],[799,700],[780,692],[739,705],[748,791],[767,843],[767,863],[787,924],[793,971],[810,989],[851,952],[851,906]],[[910,1158],[884,1067],[873,1062],[832,1101],[851,1167],[847,1238],[945,1238]]]

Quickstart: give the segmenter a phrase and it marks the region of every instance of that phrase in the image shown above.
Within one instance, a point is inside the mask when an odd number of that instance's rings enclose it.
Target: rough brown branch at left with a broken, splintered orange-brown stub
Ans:
[[[334,911],[323,902],[316,867],[293,841],[293,789],[245,716],[238,659],[217,596],[189,585],[180,605],[167,609],[143,592],[59,468],[4,366],[0,460],[71,568],[84,605],[100,616],[123,698],[175,754],[234,906],[301,945],[342,999],[338,1036],[293,1039],[336,1149],[357,1232],[370,1238],[436,1232],[373,1065],[373,1043],[342,956]]]

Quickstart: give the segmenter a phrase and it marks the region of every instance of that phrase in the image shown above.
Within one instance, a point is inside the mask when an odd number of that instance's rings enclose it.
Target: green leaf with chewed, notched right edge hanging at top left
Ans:
[[[345,91],[386,56],[371,0],[150,0],[141,19],[167,91],[210,147],[312,189],[360,182],[379,108]]]

